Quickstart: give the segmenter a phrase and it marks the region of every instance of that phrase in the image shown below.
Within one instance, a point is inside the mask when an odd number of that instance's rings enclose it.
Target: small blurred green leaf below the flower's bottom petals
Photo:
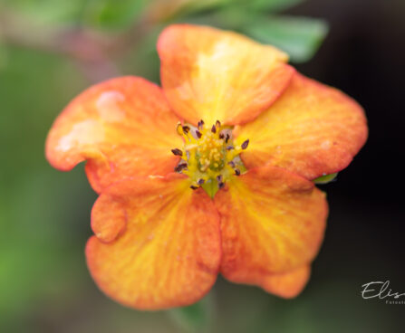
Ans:
[[[192,332],[205,332],[212,322],[213,301],[210,294],[193,305],[183,308],[170,309],[169,316],[180,328]]]

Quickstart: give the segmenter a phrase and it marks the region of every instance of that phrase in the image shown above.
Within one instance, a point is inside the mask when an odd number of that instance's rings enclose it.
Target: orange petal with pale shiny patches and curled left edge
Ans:
[[[52,166],[71,170],[87,160],[95,191],[129,176],[167,175],[182,145],[178,117],[162,90],[137,77],[104,81],[85,90],[53,123],[46,140]]]

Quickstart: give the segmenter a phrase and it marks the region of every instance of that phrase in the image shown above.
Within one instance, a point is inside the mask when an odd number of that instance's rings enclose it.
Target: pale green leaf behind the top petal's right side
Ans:
[[[328,24],[307,17],[270,16],[246,25],[243,31],[287,52],[292,62],[307,62],[328,33]]]

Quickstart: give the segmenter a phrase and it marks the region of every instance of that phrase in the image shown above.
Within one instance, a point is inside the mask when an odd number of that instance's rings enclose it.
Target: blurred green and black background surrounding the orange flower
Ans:
[[[404,19],[401,0],[0,0],[0,332],[403,330],[405,305],[362,300],[360,291],[385,280],[405,291],[395,177],[404,142]],[[219,278],[196,306],[139,312],[107,299],[87,271],[96,195],[82,165],[63,174],[47,164],[46,133],[94,82],[123,74],[159,82],[155,43],[173,22],[272,43],[367,111],[368,145],[323,186],[329,226],[313,278],[295,300]]]

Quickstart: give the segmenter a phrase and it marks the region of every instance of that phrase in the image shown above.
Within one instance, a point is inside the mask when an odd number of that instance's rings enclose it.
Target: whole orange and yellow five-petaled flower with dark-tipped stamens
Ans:
[[[97,84],[47,138],[50,163],[86,160],[100,194],[86,246],[92,277],[137,309],[191,304],[219,272],[296,296],[328,211],[313,179],[360,150],[362,108],[236,33],[171,25],[158,52],[162,89],[137,77]]]

